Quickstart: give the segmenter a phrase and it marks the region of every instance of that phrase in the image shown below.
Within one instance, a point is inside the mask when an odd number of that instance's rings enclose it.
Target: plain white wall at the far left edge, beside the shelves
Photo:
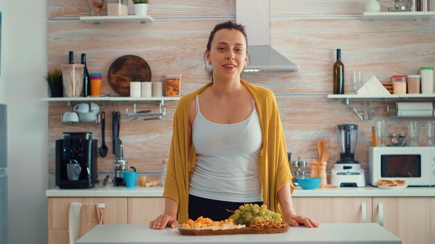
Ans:
[[[0,1],[8,104],[9,243],[47,243],[47,1]]]

